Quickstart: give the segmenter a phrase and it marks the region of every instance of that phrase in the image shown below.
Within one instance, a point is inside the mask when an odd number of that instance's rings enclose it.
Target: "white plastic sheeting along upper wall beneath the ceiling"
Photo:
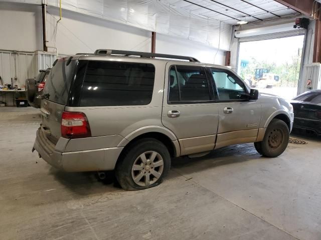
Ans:
[[[42,3],[41,0],[12,1]],[[49,6],[59,7],[59,0],[46,2]],[[222,50],[230,47],[231,25],[175,6],[167,0],[62,0],[62,8],[202,42]]]

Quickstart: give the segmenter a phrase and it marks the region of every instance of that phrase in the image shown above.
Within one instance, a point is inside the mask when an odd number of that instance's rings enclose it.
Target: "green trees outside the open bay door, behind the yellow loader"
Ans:
[[[251,57],[249,64],[246,67],[241,68],[240,76],[243,79],[249,76],[254,77],[255,68],[268,68],[270,73],[279,75],[280,86],[297,86],[300,63],[301,63],[302,48],[298,48],[296,53],[293,53],[291,60],[277,65],[274,61],[267,62],[258,61],[254,57]]]

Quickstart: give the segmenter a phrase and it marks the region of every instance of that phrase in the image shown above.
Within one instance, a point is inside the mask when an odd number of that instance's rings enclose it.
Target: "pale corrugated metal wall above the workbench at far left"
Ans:
[[[56,54],[51,52],[0,50],[0,76],[4,84],[25,87],[27,78],[36,77],[40,69],[51,67],[56,58]],[[0,101],[6,102],[6,105],[14,105],[13,94],[15,93],[2,92]]]

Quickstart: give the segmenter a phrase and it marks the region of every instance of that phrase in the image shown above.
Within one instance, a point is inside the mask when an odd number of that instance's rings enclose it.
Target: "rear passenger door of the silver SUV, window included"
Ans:
[[[181,155],[214,148],[218,107],[205,66],[168,62],[162,123],[177,136]]]

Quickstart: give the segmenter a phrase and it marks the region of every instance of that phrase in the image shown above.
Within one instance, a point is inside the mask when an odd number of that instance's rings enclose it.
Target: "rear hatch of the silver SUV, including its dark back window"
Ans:
[[[41,127],[54,144],[61,136],[61,118],[67,105],[70,84],[77,60],[60,58],[50,71],[41,101]]]

